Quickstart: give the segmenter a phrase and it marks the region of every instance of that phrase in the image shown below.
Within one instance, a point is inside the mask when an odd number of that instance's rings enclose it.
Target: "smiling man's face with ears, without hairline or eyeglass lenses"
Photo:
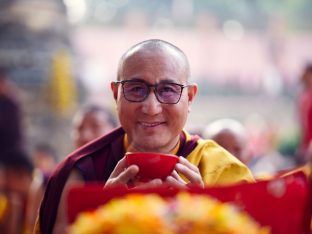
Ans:
[[[151,85],[165,80],[187,84],[182,60],[159,51],[141,51],[131,55],[124,63],[120,79],[140,79]],[[121,84],[112,85],[112,90],[120,123],[128,134],[128,150],[169,152],[176,145],[196,93],[195,86],[184,88],[177,104],[160,103],[153,88],[142,102],[127,101]]]

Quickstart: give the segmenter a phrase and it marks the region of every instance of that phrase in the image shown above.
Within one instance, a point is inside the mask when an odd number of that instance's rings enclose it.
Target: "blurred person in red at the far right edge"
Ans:
[[[308,161],[307,149],[312,140],[312,64],[308,64],[300,79],[302,91],[298,97],[298,112],[300,123],[300,146],[298,150],[299,164]]]

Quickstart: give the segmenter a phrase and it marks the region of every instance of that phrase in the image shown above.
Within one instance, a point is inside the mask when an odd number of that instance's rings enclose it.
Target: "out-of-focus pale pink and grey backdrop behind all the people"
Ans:
[[[82,104],[114,111],[109,84],[122,53],[167,40],[185,51],[199,84],[189,131],[235,118],[257,154],[273,146],[293,155],[311,10],[309,0],[1,0],[0,67],[21,104],[26,146],[45,141],[62,159]]]

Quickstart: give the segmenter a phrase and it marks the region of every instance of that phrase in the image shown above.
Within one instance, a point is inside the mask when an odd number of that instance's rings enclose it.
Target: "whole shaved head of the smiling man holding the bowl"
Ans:
[[[121,57],[117,79],[124,82],[112,82],[111,89],[131,150],[167,152],[174,148],[197,92],[197,85],[188,82],[189,76],[185,54],[162,40],[140,42]],[[154,87],[144,100],[129,101],[125,93],[142,91],[142,85],[129,88],[131,82]],[[159,85],[166,87],[159,90]],[[170,96],[176,89],[171,85],[179,86],[174,92],[180,92],[180,99],[174,104],[160,102],[159,92]]]

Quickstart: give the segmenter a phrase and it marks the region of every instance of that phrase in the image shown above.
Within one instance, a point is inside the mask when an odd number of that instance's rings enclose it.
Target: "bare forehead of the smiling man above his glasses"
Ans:
[[[120,79],[187,80],[187,66],[182,56],[166,48],[132,51],[123,61]]]

